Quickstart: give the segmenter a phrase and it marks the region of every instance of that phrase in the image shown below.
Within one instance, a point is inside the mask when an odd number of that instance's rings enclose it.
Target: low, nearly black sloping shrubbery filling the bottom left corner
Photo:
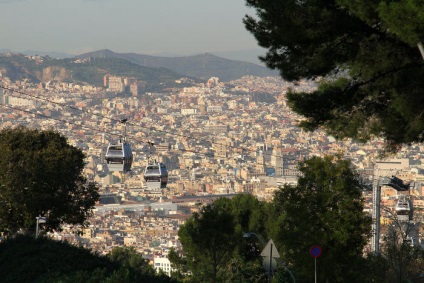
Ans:
[[[111,260],[64,242],[27,236],[0,243],[0,278],[1,282],[175,282],[128,265],[125,259]]]

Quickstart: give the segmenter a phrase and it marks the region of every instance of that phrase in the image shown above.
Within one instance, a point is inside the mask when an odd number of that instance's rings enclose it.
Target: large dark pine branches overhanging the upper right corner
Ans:
[[[387,150],[424,140],[424,39],[419,0],[246,0],[244,24],[268,49],[260,59],[289,81],[319,79],[313,93],[289,92],[308,130],[386,140]]]

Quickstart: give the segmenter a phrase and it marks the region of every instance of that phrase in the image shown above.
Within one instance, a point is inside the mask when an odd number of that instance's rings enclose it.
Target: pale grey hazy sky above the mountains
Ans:
[[[245,0],[0,0],[0,49],[191,55],[259,48]]]

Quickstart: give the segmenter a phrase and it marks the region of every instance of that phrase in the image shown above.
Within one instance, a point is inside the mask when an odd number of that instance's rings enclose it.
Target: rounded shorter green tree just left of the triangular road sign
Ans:
[[[183,255],[169,260],[190,282],[260,282],[263,270],[260,244],[244,238],[245,232],[265,231],[265,204],[252,195],[221,198],[202,208],[180,227]],[[258,281],[259,280],[259,281]]]

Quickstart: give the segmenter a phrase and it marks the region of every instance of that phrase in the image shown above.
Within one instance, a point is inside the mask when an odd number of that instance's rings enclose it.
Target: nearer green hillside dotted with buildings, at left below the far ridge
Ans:
[[[38,58],[38,59],[37,59]],[[146,90],[157,90],[176,85],[183,75],[165,68],[144,67],[120,58],[53,59],[30,58],[22,54],[0,54],[0,72],[12,81],[30,79],[31,82],[74,82],[101,86],[106,74],[134,77],[146,82]]]

